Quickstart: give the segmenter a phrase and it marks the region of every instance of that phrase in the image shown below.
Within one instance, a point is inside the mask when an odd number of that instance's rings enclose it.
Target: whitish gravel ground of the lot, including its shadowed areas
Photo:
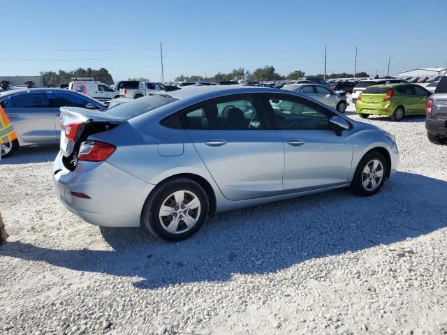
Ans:
[[[379,194],[230,211],[177,244],[82,222],[52,191],[57,147],[20,150],[0,164],[0,333],[446,334],[447,147],[423,117],[367,122],[402,155]]]

